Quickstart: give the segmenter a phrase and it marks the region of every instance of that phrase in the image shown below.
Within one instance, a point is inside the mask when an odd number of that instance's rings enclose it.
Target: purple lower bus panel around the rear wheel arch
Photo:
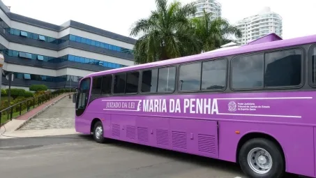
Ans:
[[[266,133],[276,138],[280,143],[285,153],[287,172],[314,176],[313,127],[220,121],[218,131],[219,158],[222,160],[236,161],[237,145],[243,135],[247,133]],[[238,135],[234,131],[240,131],[240,134]]]

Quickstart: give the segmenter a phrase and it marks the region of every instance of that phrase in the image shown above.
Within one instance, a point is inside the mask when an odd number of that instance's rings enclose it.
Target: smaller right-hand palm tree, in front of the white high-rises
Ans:
[[[241,31],[222,17],[211,20],[211,13],[192,19],[195,35],[202,42],[203,52],[216,50],[225,43],[234,41],[232,36],[241,37]]]

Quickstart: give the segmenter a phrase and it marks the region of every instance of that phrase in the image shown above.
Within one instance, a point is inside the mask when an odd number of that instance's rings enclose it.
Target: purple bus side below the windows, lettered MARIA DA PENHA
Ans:
[[[283,148],[287,172],[314,176],[315,103],[315,91],[114,96],[75,121],[82,133],[100,118],[108,138],[233,162],[243,135],[266,133]]]

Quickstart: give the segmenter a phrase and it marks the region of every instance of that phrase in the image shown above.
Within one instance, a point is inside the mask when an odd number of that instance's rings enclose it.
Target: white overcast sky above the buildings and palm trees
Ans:
[[[20,15],[63,24],[75,20],[94,27],[129,36],[136,20],[148,17],[156,9],[155,0],[2,0]],[[188,3],[193,0],[180,0]],[[255,15],[264,6],[283,17],[283,38],[316,34],[313,19],[316,0],[218,0],[223,17],[235,23]],[[171,1],[170,1],[171,2]]]

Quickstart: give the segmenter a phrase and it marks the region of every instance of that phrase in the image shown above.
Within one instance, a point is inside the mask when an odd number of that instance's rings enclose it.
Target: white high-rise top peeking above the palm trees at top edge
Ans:
[[[216,0],[197,0],[195,7],[197,8],[195,17],[202,17],[204,10],[206,13],[211,13],[211,20],[222,16],[222,5]]]

